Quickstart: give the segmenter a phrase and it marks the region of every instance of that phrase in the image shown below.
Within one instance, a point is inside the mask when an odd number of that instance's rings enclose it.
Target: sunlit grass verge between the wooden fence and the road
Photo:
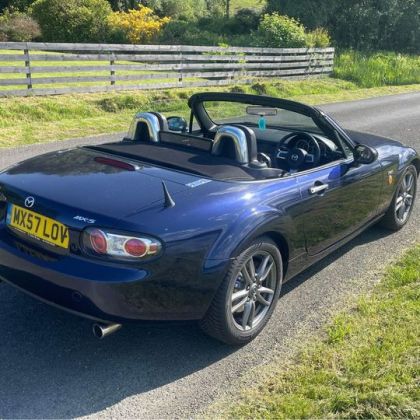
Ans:
[[[0,99],[0,147],[127,130],[138,110],[188,116],[187,98],[198,91],[239,91],[321,104],[420,90],[410,86],[361,89],[337,79],[256,82],[251,86]]]

